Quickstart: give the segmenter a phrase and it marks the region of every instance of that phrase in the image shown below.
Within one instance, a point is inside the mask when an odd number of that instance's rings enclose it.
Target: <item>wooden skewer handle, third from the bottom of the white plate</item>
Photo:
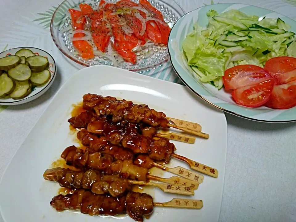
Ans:
[[[169,184],[175,184],[175,185],[181,185],[181,186],[190,186],[194,190],[197,190],[199,183],[194,182],[190,179],[185,179],[182,177],[172,176],[170,178],[162,178],[158,176],[153,175],[147,175],[147,178],[150,180],[155,180],[163,183],[169,183]]]

